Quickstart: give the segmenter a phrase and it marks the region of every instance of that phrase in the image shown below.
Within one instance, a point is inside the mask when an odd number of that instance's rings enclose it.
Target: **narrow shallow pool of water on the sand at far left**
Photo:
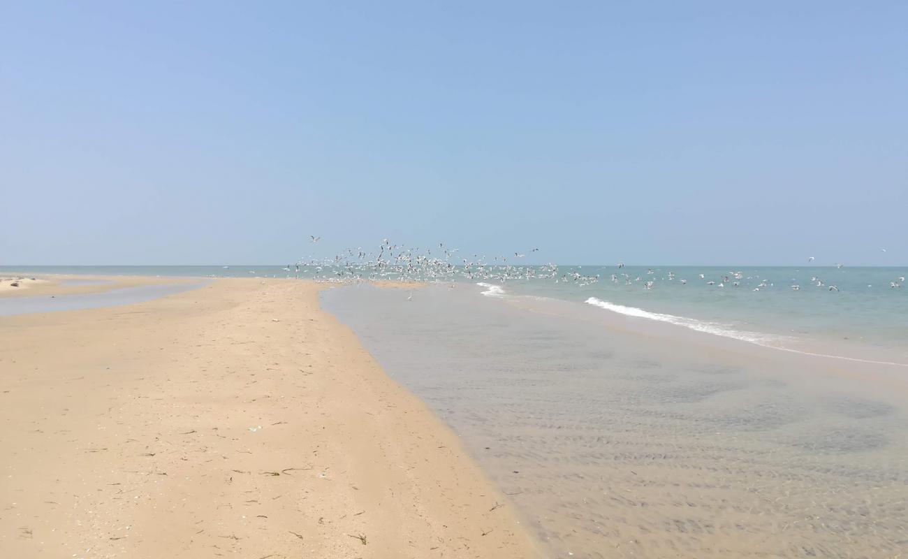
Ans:
[[[103,306],[142,303],[165,295],[182,293],[202,287],[207,282],[192,284],[138,285],[112,289],[102,293],[68,295],[34,295],[0,298],[0,316],[12,314],[53,313]]]

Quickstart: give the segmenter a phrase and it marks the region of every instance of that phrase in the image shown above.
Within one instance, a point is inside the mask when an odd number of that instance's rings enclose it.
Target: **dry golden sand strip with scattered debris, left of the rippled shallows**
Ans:
[[[319,289],[0,318],[0,556],[538,556]]]

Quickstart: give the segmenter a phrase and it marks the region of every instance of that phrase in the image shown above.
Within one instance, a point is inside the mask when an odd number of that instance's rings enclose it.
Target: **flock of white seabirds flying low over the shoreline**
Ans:
[[[321,236],[310,235],[312,244],[318,243],[320,240]],[[538,248],[532,248],[528,252],[536,253],[538,251]],[[459,252],[459,249],[447,247],[444,243],[439,243],[438,247],[411,248],[391,243],[389,239],[383,239],[375,250],[369,251],[361,246],[355,249],[349,248],[331,258],[298,260],[296,264],[284,267],[283,271],[288,275],[294,274],[296,277],[311,275],[312,279],[322,282],[397,280],[449,283],[451,286],[458,280],[507,283],[531,279],[584,286],[596,284],[603,279],[600,274],[585,273],[583,266],[570,266],[566,270],[562,270],[554,264],[520,265],[520,259],[526,256],[526,253],[521,252],[515,252],[513,256],[493,256],[491,259],[485,255],[464,257]],[[807,259],[808,265],[814,260],[815,258],[810,256]],[[602,269],[600,266],[595,267],[599,271]],[[841,269],[844,265],[836,264],[835,267]],[[645,275],[631,275],[627,274],[623,262],[617,263],[615,268],[616,271],[609,277],[613,284],[640,284],[645,290],[656,288],[656,284],[662,281],[688,284],[686,278],[677,277],[671,271],[664,273],[661,270],[648,269]],[[251,270],[250,273],[254,274],[254,271]],[[773,281],[759,275],[745,275],[740,271],[730,271],[713,277],[699,274],[696,279],[699,280],[698,283],[716,289],[737,288],[745,285],[752,286],[752,291],[760,291],[775,287]],[[901,287],[904,280],[904,277],[898,277],[889,286],[893,289]],[[797,282],[796,278],[791,278],[785,284],[793,291],[800,291],[802,286]],[[871,286],[868,285],[868,287]],[[823,279],[815,275],[811,277],[809,287],[829,292],[839,291],[838,285],[826,284]]]

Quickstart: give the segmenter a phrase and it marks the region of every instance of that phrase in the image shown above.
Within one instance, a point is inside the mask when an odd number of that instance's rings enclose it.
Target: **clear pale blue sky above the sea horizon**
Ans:
[[[908,265],[908,3],[447,4],[3,3],[0,265]]]

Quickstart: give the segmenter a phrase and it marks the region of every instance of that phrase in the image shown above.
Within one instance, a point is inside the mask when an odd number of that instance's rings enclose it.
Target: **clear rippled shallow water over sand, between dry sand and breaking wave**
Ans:
[[[899,371],[876,385],[821,360],[623,332],[583,304],[531,311],[481,289],[407,301],[360,285],[322,303],[461,435],[551,556],[908,550]]]

